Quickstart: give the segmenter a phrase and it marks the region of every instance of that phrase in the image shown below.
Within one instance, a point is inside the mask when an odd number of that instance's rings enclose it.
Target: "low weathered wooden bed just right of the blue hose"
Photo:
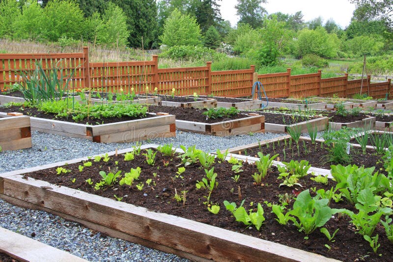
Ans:
[[[280,99],[280,98],[269,98],[269,107],[285,107],[294,110],[307,110],[307,109],[326,109],[326,102],[314,102],[314,101],[301,101],[291,99]]]

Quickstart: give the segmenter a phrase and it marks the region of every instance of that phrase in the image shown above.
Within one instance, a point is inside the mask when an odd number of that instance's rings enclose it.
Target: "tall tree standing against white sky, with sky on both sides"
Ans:
[[[267,14],[261,3],[266,3],[266,0],[237,0],[235,8],[240,17],[238,23],[249,24],[253,28],[261,27],[263,15]]]

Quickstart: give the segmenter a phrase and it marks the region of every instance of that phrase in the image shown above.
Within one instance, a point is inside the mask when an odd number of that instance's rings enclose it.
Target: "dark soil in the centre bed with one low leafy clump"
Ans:
[[[150,105],[149,106],[149,112],[153,113],[158,113],[158,112],[163,112],[163,113],[168,113],[171,115],[176,116],[176,120],[185,120],[185,121],[194,121],[194,122],[199,122],[199,123],[217,123],[217,122],[222,122],[222,121],[228,121],[228,120],[234,120],[234,119],[241,119],[248,117],[247,115],[244,114],[237,114],[232,117],[220,117],[216,119],[206,119],[206,116],[203,114],[203,112],[206,112],[207,109],[198,109],[198,108],[186,108],[186,107],[175,107],[175,106],[164,106],[164,105]]]

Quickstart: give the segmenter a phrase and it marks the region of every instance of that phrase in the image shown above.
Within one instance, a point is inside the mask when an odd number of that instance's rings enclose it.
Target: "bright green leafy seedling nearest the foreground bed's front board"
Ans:
[[[241,203],[239,208],[236,208],[235,203],[229,203],[228,201],[224,201],[224,206],[226,210],[232,212],[237,222],[243,222],[246,226],[254,225],[256,230],[259,230],[262,226],[262,223],[265,221],[265,217],[263,216],[264,210],[260,203],[257,205],[257,211],[250,211],[250,214],[243,207],[244,200]]]

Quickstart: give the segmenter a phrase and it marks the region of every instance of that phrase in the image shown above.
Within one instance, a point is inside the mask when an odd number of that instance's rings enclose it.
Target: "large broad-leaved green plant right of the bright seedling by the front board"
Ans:
[[[288,221],[304,232],[306,235],[311,234],[315,229],[323,227],[332,215],[343,210],[331,209],[328,206],[328,199],[311,198],[309,189],[299,193],[296,201],[293,203],[293,209],[283,214],[278,205],[273,205],[272,210],[278,217],[280,224],[286,225]]]

